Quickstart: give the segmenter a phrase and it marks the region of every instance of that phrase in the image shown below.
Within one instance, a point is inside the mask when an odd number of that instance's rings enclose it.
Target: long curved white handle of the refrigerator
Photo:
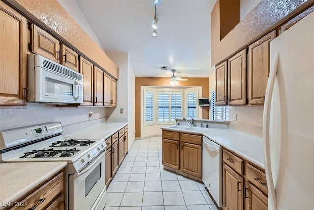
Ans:
[[[268,183],[268,196],[270,200],[268,202],[272,203],[273,210],[277,210],[277,202],[276,202],[276,193],[274,180],[271,171],[271,162],[270,162],[270,139],[269,139],[269,124],[270,124],[270,105],[271,105],[271,97],[273,94],[275,77],[277,74],[278,68],[278,60],[279,55],[278,52],[274,54],[273,57],[275,60],[274,66],[271,66],[270,75],[268,77],[266,95],[265,95],[265,104],[264,104],[264,119],[263,119],[263,144],[264,144],[264,160],[265,160],[265,172],[266,179]]]

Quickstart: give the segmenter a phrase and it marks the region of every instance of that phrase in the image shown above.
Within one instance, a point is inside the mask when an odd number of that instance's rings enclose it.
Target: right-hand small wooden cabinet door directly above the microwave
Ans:
[[[75,71],[79,71],[79,62],[78,62],[78,53],[70,49],[65,44],[61,44],[61,64],[69,68],[72,68]]]

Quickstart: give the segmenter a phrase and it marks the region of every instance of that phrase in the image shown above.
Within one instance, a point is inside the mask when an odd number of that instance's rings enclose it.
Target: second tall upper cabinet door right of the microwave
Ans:
[[[94,106],[103,106],[104,71],[94,66]]]

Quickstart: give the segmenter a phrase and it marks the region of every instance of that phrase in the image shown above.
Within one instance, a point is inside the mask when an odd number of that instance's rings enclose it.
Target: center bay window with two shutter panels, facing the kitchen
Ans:
[[[157,92],[157,124],[175,122],[182,116],[182,92]]]

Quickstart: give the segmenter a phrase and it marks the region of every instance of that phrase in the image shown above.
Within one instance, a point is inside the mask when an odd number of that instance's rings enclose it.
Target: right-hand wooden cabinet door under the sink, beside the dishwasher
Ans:
[[[202,178],[202,146],[181,142],[181,170]]]

